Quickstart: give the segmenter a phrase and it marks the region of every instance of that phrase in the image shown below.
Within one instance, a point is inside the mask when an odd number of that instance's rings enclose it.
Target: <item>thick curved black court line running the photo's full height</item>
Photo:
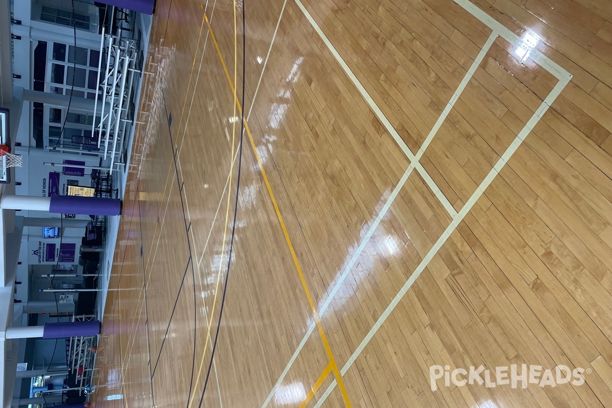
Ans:
[[[221,328],[221,320],[223,318],[223,306],[225,306],[225,295],[227,294],[228,289],[228,279],[230,278],[230,267],[231,267],[231,254],[234,249],[234,236],[236,234],[236,215],[238,212],[238,197],[240,192],[240,176],[242,170],[242,141],[244,139],[244,93],[245,93],[245,66],[246,66],[246,53],[247,53],[247,25],[245,23],[245,13],[244,13],[244,0],[242,0],[242,113],[241,113],[241,121],[240,121],[240,152],[238,158],[238,177],[236,182],[236,204],[234,204],[234,222],[231,227],[231,240],[230,240],[230,252],[228,257],[228,267],[225,272],[225,286],[223,286],[223,297],[221,299],[221,308],[219,310],[219,319],[217,322],[217,330],[215,333],[215,341],[212,344],[212,352],[211,352],[211,362],[208,365],[208,371],[206,373],[206,380],[204,381],[204,389],[202,390],[202,396],[200,397],[200,405],[198,408],[201,408],[202,403],[204,402],[204,394],[206,393],[206,387],[208,385],[208,380],[211,376],[211,368],[212,362],[215,358],[215,351],[217,351],[217,340],[219,338],[219,330]]]

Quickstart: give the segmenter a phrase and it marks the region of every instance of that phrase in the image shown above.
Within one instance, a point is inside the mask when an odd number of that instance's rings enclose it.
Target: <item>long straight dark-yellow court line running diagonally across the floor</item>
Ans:
[[[217,48],[217,54],[219,56],[219,59],[221,60],[221,64],[223,65],[223,70],[225,71],[225,76],[226,76],[226,78],[228,80],[228,83],[230,84],[231,91],[234,94],[234,98],[236,99],[236,105],[238,106],[238,109],[239,109],[240,113],[242,114],[242,106],[240,105],[240,101],[238,100],[238,96],[236,95],[236,88],[234,86],[232,86],[231,79],[230,79],[230,73],[228,73],[227,67],[225,65],[225,61],[223,61],[223,56],[221,55],[221,50],[219,49],[219,45],[217,43],[217,39],[215,38],[215,34],[214,34],[214,32],[212,32],[211,23],[208,21],[208,17],[206,16],[206,13],[204,13],[204,18],[206,20],[206,25],[208,26],[208,30],[211,32],[212,42],[215,44],[215,48]],[[338,369],[338,365],[336,364],[334,355],[332,354],[331,348],[329,347],[329,341],[327,341],[327,336],[325,334],[325,331],[323,330],[323,324],[321,324],[321,319],[319,318],[319,313],[316,311],[315,302],[313,302],[312,296],[310,295],[310,290],[308,289],[308,284],[306,283],[306,279],[304,278],[304,273],[302,273],[302,267],[300,267],[300,263],[297,260],[296,251],[294,250],[293,243],[291,243],[291,239],[289,238],[289,233],[287,232],[287,228],[285,226],[285,221],[283,221],[283,217],[282,217],[282,215],[280,215],[280,210],[278,209],[278,204],[276,202],[276,198],[274,197],[274,193],[272,193],[272,187],[271,187],[270,182],[269,182],[269,180],[267,178],[266,171],[264,170],[263,163],[261,163],[261,158],[259,157],[259,154],[258,154],[256,146],[255,146],[255,140],[253,140],[253,135],[251,134],[251,131],[248,128],[248,123],[247,123],[246,119],[244,120],[244,128],[247,131],[248,139],[251,142],[251,147],[253,148],[253,152],[255,153],[255,157],[257,158],[257,163],[259,164],[259,170],[261,171],[261,176],[263,177],[264,182],[266,184],[266,188],[268,190],[268,194],[270,195],[270,198],[272,199],[272,205],[274,206],[274,210],[276,212],[276,215],[277,215],[277,218],[278,218],[278,222],[280,223],[280,226],[283,229],[283,234],[285,235],[285,240],[286,240],[287,245],[289,247],[289,251],[291,252],[291,258],[293,258],[293,263],[295,264],[296,269],[297,269],[297,273],[300,276],[300,281],[302,281],[302,287],[304,288],[304,292],[306,294],[306,297],[308,298],[308,304],[310,305],[310,309],[312,310],[313,317],[314,317],[315,322],[316,322],[316,326],[317,326],[317,328],[319,330],[319,335],[321,336],[321,341],[323,341],[323,346],[325,347],[325,351],[327,352],[327,357],[329,358],[329,362],[332,365],[332,369],[334,371],[334,376],[336,377],[336,380],[338,382],[338,388],[340,388],[340,393],[342,394],[342,398],[345,401],[346,407],[347,408],[351,408],[351,401],[349,401],[348,394],[346,393],[346,388],[345,388],[344,382],[342,381],[342,376],[340,374],[340,370]]]

